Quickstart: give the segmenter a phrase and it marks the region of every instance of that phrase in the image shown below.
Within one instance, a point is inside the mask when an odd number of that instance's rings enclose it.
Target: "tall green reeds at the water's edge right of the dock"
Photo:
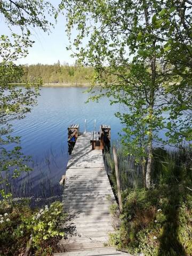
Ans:
[[[121,189],[142,188],[142,169],[135,157],[126,155],[125,150],[117,141],[115,142]],[[152,185],[172,184],[191,181],[192,178],[192,149],[186,147],[179,150],[165,150],[154,148],[153,166],[151,172]],[[106,170],[111,184],[116,189],[115,165],[113,153],[103,154]],[[146,159],[147,161],[147,159]]]

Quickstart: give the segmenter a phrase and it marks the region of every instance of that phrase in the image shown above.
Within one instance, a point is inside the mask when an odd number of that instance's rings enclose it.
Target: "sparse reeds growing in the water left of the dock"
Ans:
[[[61,147],[59,154],[61,161],[66,150]],[[12,179],[9,175],[9,182],[2,184],[1,188],[5,189],[6,193],[11,193],[13,197],[34,197],[48,198],[61,196],[62,187],[59,185],[60,168],[58,166],[58,153],[52,149],[47,151],[42,158],[34,159],[30,167],[32,171],[22,173],[17,179]],[[63,173],[65,166],[63,165]],[[57,175],[54,175],[57,173]]]

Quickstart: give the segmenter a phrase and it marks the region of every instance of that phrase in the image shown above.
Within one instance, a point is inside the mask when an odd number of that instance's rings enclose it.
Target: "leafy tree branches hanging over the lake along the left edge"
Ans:
[[[36,10],[36,11],[34,11]],[[45,12],[54,13],[54,7],[50,3],[42,1],[3,1],[0,3],[0,13],[3,15],[7,29],[11,31],[11,37],[0,36],[0,193],[2,196],[10,192],[10,180],[19,177],[21,172],[28,172],[27,163],[29,157],[22,154],[20,138],[12,137],[12,124],[14,119],[24,118],[36,105],[39,95],[38,85],[41,79],[35,83],[27,82],[25,89],[10,86],[23,75],[21,66],[15,65],[19,58],[26,57],[28,48],[33,45],[30,40],[30,26],[50,31],[50,23],[45,18]],[[44,17],[44,18],[43,18]],[[51,23],[52,25],[52,23]],[[18,27],[18,34],[13,31]],[[6,188],[4,188],[6,185]],[[3,186],[3,187],[2,187]]]

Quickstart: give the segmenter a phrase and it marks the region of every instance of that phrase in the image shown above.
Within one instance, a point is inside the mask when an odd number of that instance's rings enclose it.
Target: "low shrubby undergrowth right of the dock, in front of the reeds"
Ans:
[[[127,189],[121,228],[110,235],[118,249],[147,255],[191,255],[191,195],[178,186]]]

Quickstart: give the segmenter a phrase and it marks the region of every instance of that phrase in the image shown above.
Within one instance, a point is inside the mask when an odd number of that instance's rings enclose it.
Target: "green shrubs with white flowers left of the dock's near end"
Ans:
[[[45,205],[41,210],[31,210],[25,200],[20,204],[1,201],[0,213],[1,255],[25,252],[30,239],[34,255],[52,255],[63,235],[59,222],[65,220],[65,216],[60,202],[54,202],[50,207]]]

